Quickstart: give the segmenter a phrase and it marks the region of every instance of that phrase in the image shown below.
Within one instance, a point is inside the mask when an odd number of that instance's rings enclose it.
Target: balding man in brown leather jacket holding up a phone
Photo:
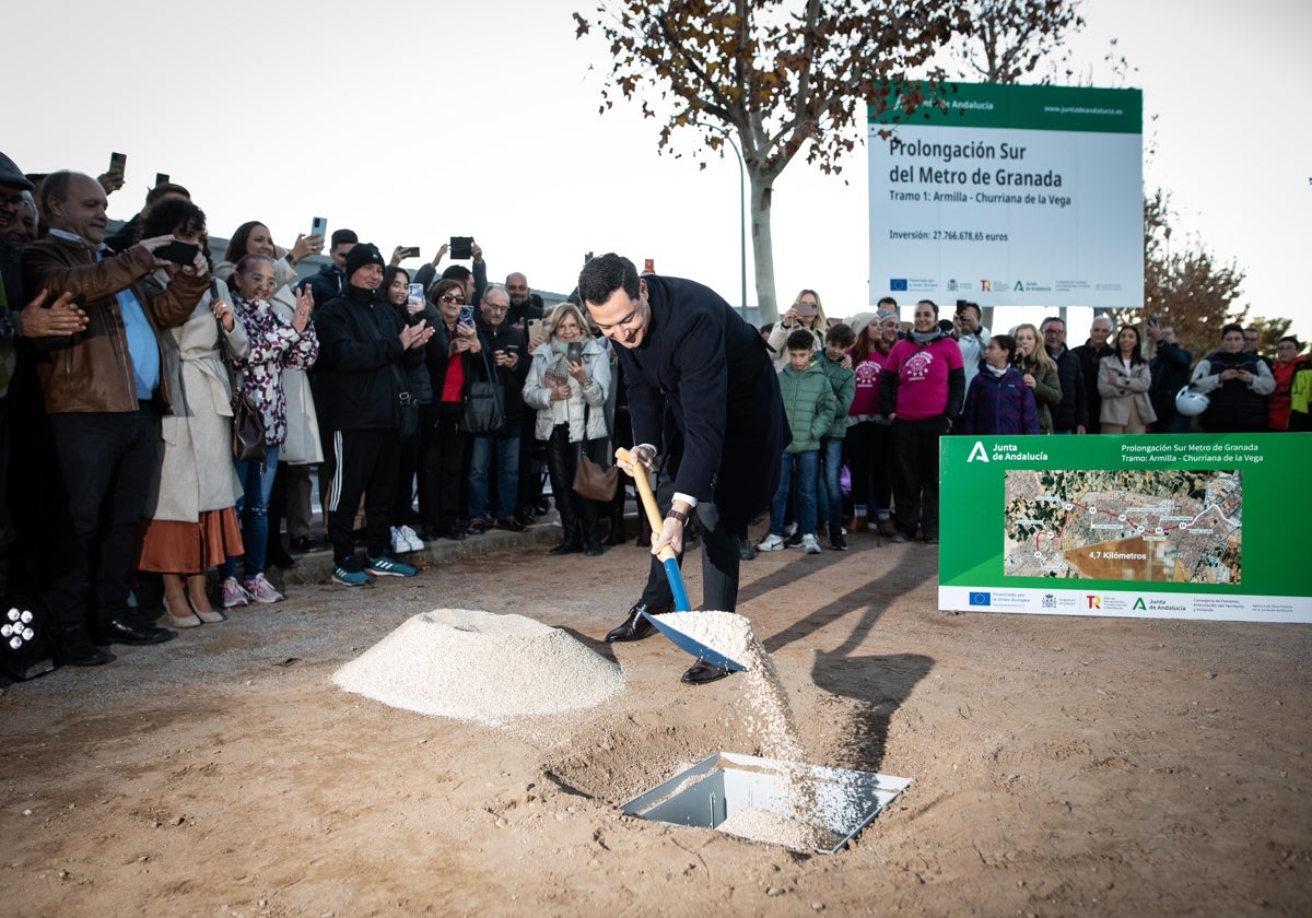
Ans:
[[[209,286],[195,252],[156,295],[140,281],[172,236],[114,254],[104,247],[105,191],[91,176],[51,173],[41,191],[50,233],[22,252],[29,290],[73,295],[87,328],[47,340],[37,372],[54,437],[50,577],[42,590],[63,662],[110,660],[96,644],[159,644],[173,632],[127,609],[127,576],[160,435],[169,410],[156,330],[184,323]]]

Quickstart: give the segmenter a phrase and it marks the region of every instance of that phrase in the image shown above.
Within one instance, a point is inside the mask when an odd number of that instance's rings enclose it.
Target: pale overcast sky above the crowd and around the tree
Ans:
[[[127,153],[127,186],[110,198],[121,219],[165,172],[219,236],[258,219],[290,243],[321,215],[384,252],[419,245],[426,258],[446,237],[472,235],[495,279],[522,270],[555,291],[572,289],[585,252],[617,250],[739,303],[737,161],[731,152],[698,170],[656,155],[659,125],[636,106],[598,114],[606,49],[576,41],[571,18],[593,5],[327,0],[202,21],[177,4],[125,0],[94,28],[52,30],[51,8],[17,4],[7,33],[28,39],[7,42],[0,150],[29,172],[92,174],[110,151]],[[1254,315],[1294,316],[1304,337],[1308,10],[1295,0],[1086,0],[1073,43],[1073,63],[1105,84],[1109,39],[1119,39],[1138,68],[1123,85],[1143,88],[1145,146],[1156,146],[1145,186],[1170,190],[1179,228],[1248,271]],[[862,144],[837,177],[799,160],[778,181],[781,303],[815,287],[829,315],[865,308],[866,168]],[[750,278],[749,264],[754,304]],[[1082,321],[1073,315],[1072,330]]]

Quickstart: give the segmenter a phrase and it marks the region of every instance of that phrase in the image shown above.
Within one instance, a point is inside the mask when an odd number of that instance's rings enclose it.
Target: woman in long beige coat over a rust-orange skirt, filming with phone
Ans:
[[[172,232],[203,247],[205,214],[186,199],[167,199],[146,215],[142,230],[150,236]],[[176,270],[161,268],[146,282],[163,287]],[[164,609],[174,628],[223,620],[206,595],[205,570],[241,552],[232,388],[220,348],[234,355],[245,355],[249,348],[222,292],[222,286],[211,286],[184,324],[159,336],[160,372],[173,393],[173,412],[160,424],[163,443],[156,450],[136,567],[163,576]]]

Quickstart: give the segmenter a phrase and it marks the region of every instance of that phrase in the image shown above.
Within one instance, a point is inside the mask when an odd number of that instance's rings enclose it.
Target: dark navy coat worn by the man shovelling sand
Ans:
[[[712,501],[737,530],[779,483],[789,422],[760,333],[714,290],[647,274],[651,327],[643,344],[615,345],[635,443],[660,443],[665,408],[682,434],[674,490]]]

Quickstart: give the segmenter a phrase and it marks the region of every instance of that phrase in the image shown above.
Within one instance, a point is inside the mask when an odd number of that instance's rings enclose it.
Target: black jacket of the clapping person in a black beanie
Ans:
[[[346,287],[315,309],[319,359],[315,397],[333,430],[400,426],[400,392],[411,367],[424,361],[419,348],[401,348],[404,323],[375,290]]]

